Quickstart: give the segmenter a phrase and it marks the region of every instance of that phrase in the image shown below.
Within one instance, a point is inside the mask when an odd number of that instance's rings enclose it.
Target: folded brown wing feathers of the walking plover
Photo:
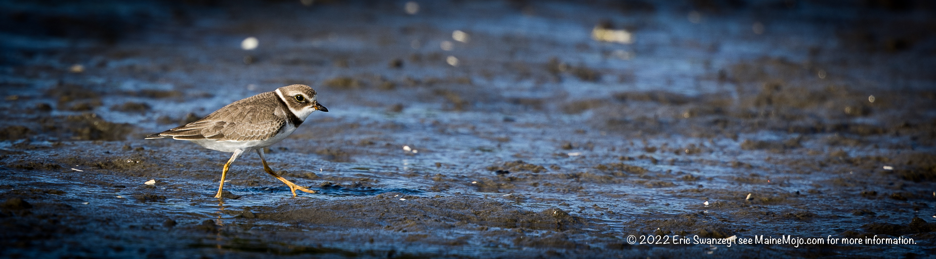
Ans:
[[[148,137],[217,141],[267,139],[275,136],[286,123],[283,116],[277,116],[279,103],[272,98],[279,97],[272,92],[256,94],[220,108],[196,122]]]

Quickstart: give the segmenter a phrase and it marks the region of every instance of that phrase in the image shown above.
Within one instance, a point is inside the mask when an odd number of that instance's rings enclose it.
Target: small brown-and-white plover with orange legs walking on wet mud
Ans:
[[[288,185],[293,196],[296,196],[296,190],[314,194],[315,191],[296,185],[273,172],[263,156],[263,148],[288,137],[313,111],[329,112],[328,108],[318,104],[316,97],[315,90],[307,85],[284,86],[273,92],[233,102],[201,120],[147,136],[146,139],[172,137],[195,142],[213,151],[233,152],[221,171],[221,184],[215,198],[221,198],[231,163],[248,151],[256,151],[263,162],[263,170]]]

